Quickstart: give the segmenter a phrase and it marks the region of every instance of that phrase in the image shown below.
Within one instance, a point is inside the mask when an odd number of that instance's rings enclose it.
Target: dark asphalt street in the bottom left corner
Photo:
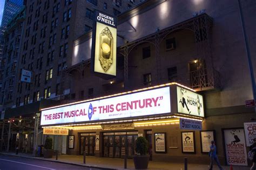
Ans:
[[[92,169],[83,166],[62,164],[58,162],[50,162],[36,159],[27,159],[21,157],[9,157],[6,155],[0,155],[0,170],[15,170],[15,169],[26,169],[26,170],[43,170],[43,169]]]

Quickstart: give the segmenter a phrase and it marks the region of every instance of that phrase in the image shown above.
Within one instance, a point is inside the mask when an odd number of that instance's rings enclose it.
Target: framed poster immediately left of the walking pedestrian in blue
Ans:
[[[211,141],[215,141],[215,130],[200,131],[201,153],[209,153]]]

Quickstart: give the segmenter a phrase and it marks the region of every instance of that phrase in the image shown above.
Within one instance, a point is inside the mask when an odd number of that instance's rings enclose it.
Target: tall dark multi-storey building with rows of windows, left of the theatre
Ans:
[[[24,21],[22,20],[23,30],[22,33],[21,30],[17,32],[21,33],[18,39],[19,44],[22,45],[18,48],[15,39],[11,39],[17,38],[16,32],[13,33],[10,30],[10,34],[6,36],[8,38],[4,46],[5,63],[2,62],[3,74],[6,75],[1,93],[2,101],[5,103],[2,117],[16,117],[19,121],[20,115],[29,115],[33,120],[35,113],[39,112],[39,108],[44,103],[55,103],[60,100],[70,102],[70,90],[63,89],[65,84],[62,70],[71,66],[73,40],[92,29],[94,10],[119,15],[138,3],[140,1],[37,0],[26,2]],[[19,28],[19,22],[15,19],[14,22],[16,22],[14,25]],[[16,53],[15,47],[18,48]],[[8,52],[18,55],[16,60],[12,60]],[[12,67],[6,65],[6,62],[15,65],[17,70],[17,72],[13,71],[15,78],[10,74]],[[31,74],[29,80],[22,79],[24,70]],[[50,99],[55,101],[48,101]],[[35,122],[32,124],[30,126],[34,127]],[[30,133],[29,128],[26,132]],[[32,135],[28,138],[31,139]],[[22,139],[25,138],[21,135]],[[30,146],[32,148],[32,145]]]

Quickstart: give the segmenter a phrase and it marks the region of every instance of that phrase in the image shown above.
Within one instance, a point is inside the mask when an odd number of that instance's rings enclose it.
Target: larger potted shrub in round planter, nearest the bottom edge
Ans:
[[[150,156],[147,154],[149,142],[145,137],[138,137],[136,140],[135,151],[136,155],[133,156],[133,162],[136,169],[147,169]]]

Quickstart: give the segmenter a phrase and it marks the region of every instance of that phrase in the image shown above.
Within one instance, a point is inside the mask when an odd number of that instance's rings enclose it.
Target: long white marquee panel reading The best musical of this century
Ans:
[[[171,112],[170,87],[42,111],[41,125],[138,117]]]

